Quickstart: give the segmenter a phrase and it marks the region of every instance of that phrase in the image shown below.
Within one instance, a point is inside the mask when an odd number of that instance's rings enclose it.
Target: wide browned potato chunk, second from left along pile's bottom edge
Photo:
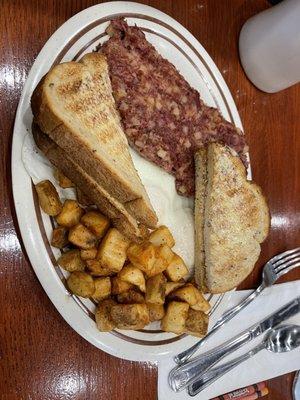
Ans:
[[[110,314],[119,329],[142,329],[150,322],[146,304],[116,304]]]

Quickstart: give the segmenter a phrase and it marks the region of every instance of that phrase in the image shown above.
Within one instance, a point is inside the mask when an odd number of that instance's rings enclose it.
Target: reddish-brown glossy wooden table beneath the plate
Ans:
[[[48,37],[88,0],[1,1],[0,29],[0,398],[1,400],[155,399],[155,365],[122,361],[91,346],[60,317],[26,257],[10,176],[15,111],[30,67]],[[172,15],[203,44],[222,72],[250,144],[253,175],[266,196],[272,229],[243,287],[257,285],[270,256],[299,246],[300,86],[268,95],[246,78],[238,59],[243,23],[265,0],[144,1]],[[298,122],[298,124],[297,124]],[[288,279],[297,278],[297,272]],[[299,278],[299,272],[298,272]],[[291,399],[293,374],[269,381],[266,399]]]

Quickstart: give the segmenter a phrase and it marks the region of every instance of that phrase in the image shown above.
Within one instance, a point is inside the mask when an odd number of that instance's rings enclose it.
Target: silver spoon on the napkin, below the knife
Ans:
[[[229,361],[228,363],[220,365],[220,367],[213,368],[201,376],[197,382],[189,386],[189,395],[195,396],[206,387],[215,382],[218,378],[226,374],[237,365],[253,357],[259,351],[266,349],[273,353],[284,353],[294,350],[300,346],[300,326],[298,325],[284,325],[276,329],[272,329],[264,338],[262,343],[254,347],[248,353]]]

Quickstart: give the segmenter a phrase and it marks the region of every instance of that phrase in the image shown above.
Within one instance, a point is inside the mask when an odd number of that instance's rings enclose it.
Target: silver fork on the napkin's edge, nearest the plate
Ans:
[[[251,301],[261,294],[265,288],[272,286],[282,275],[296,267],[300,267],[300,247],[285,251],[284,253],[278,254],[277,256],[271,258],[271,260],[269,260],[264,266],[262,275],[263,280],[261,285],[240,304],[226,311],[213,326],[212,330],[203,339],[199,340],[189,349],[175,356],[174,360],[176,364],[184,364],[187,362],[188,359],[199,349],[199,347],[203,346],[203,344],[214,333],[216,333],[221,326],[225,325],[226,322],[230,321],[236,314],[238,314],[249,303],[251,303]]]

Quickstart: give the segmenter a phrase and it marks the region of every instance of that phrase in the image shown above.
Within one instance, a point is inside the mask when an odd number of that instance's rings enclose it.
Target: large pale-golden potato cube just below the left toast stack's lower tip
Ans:
[[[116,229],[111,228],[102,240],[97,259],[104,268],[119,272],[126,261],[129,241]]]

